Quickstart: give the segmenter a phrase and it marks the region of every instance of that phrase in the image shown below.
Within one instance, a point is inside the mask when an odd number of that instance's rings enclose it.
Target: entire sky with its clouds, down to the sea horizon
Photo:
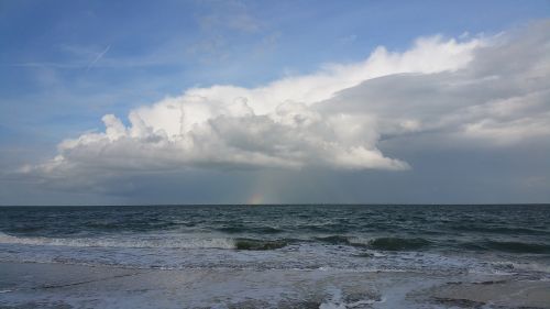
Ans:
[[[0,205],[550,202],[550,1],[0,0]]]

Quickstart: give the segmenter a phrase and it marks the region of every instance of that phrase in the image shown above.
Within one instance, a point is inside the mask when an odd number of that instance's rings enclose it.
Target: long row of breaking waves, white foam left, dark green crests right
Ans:
[[[74,247],[134,247],[134,249],[223,249],[268,251],[285,247],[296,243],[318,243],[338,246],[353,246],[373,251],[424,251],[433,245],[422,238],[358,238],[346,235],[328,235],[314,239],[246,239],[246,238],[211,238],[193,236],[189,234],[120,234],[118,236],[97,238],[46,238],[15,236],[0,232],[0,244],[50,245]],[[515,254],[550,254],[550,244],[518,241],[483,240],[459,243],[459,247],[469,251],[498,251]]]

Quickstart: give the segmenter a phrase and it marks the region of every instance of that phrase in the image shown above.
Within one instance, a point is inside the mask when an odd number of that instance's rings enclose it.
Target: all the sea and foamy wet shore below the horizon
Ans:
[[[0,214],[1,308],[550,306],[548,206],[15,207]]]

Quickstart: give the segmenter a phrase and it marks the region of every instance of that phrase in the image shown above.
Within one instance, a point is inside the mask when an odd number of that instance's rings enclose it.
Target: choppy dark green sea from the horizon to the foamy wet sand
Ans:
[[[550,278],[550,206],[0,208],[0,261]]]

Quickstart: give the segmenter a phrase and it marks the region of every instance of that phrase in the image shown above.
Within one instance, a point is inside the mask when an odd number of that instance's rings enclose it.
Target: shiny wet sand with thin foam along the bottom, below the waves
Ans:
[[[0,263],[1,308],[550,308],[550,282]]]

